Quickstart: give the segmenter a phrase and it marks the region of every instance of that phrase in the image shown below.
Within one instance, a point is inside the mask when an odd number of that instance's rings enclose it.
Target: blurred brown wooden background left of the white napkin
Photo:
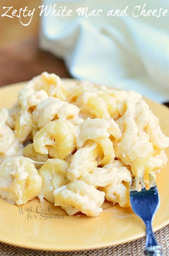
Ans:
[[[38,47],[40,5],[41,0],[0,0],[0,86],[30,80],[43,71],[70,77],[61,59]],[[3,6],[13,6],[11,10],[16,9],[17,13],[25,6],[28,10],[35,8],[31,23],[23,26],[17,17],[2,17]],[[26,23],[27,18],[24,21]]]

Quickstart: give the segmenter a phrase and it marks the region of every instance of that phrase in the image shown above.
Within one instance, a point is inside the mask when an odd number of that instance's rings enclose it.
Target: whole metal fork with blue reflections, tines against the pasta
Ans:
[[[149,175],[150,188],[145,189],[143,178],[140,179],[138,191],[135,178],[130,183],[129,195],[132,210],[144,221],[146,226],[146,242],[144,253],[147,256],[162,256],[161,246],[157,244],[152,230],[153,217],[159,207],[159,195],[153,176]],[[137,187],[137,188],[136,188]]]

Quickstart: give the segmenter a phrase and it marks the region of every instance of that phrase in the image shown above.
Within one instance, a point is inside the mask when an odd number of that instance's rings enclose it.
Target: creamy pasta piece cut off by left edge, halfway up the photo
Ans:
[[[0,111],[0,163],[7,157],[22,154],[22,144],[15,137],[14,131],[5,124],[9,117],[7,109]]]

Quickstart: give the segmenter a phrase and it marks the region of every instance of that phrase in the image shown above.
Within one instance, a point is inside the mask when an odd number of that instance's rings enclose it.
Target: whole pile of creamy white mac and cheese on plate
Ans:
[[[134,91],[34,77],[0,111],[0,196],[39,197],[68,215],[97,216],[105,199],[129,206],[132,177],[160,171],[169,138]]]

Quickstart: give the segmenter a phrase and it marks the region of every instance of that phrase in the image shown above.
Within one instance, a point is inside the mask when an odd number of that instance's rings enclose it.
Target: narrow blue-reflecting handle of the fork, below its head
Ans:
[[[163,256],[161,251],[161,246],[157,244],[152,230],[152,222],[145,221],[145,226],[147,229],[147,237],[145,243],[144,253],[147,256]]]

